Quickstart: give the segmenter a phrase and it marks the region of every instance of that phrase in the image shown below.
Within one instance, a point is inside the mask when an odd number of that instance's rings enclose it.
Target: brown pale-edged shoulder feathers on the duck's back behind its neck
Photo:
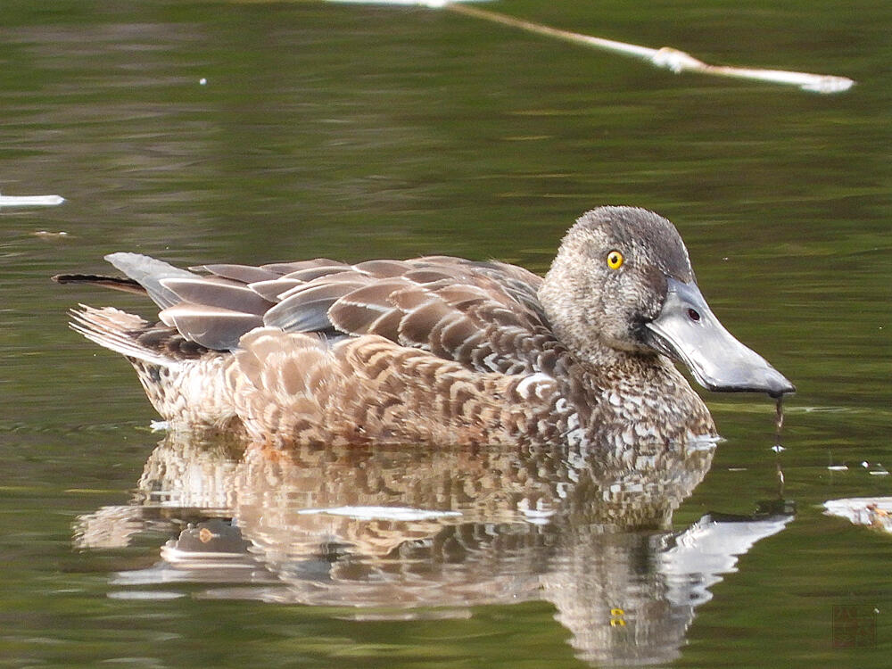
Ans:
[[[550,372],[559,345],[540,285],[541,277],[499,262],[376,260],[292,288],[264,324],[379,335],[480,371]]]

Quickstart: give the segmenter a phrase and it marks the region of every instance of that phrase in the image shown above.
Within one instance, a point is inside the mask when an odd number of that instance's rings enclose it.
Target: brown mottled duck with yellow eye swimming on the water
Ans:
[[[714,316],[681,235],[638,207],[577,219],[544,277],[424,256],[176,268],[60,284],[146,295],[145,319],[81,305],[70,326],[125,356],[169,429],[289,445],[604,445],[716,440],[709,391],[795,386]]]

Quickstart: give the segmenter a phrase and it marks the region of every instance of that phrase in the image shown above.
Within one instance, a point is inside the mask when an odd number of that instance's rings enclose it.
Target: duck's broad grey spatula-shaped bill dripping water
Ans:
[[[680,360],[711,391],[767,392],[772,397],[796,392],[785,376],[724,328],[697,285],[673,278],[668,282],[663,310],[645,326],[650,346]]]

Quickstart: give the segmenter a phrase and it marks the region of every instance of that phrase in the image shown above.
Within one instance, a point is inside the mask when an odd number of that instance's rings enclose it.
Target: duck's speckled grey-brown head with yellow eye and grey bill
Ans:
[[[662,353],[712,391],[778,397],[796,390],[715,318],[681,236],[652,211],[600,207],[583,214],[564,237],[540,296],[558,337],[595,365]]]

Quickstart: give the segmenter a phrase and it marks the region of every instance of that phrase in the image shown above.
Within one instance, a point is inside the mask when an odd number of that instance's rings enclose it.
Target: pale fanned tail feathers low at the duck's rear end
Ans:
[[[91,342],[128,358],[143,360],[161,367],[178,365],[178,360],[139,343],[140,332],[151,326],[143,318],[113,307],[96,309],[86,304],[79,306],[80,310],[70,311],[72,318],[70,327]]]

